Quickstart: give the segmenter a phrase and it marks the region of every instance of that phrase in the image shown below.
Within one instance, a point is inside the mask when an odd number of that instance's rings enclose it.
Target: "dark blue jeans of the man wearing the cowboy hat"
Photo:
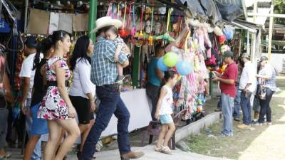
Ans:
[[[95,124],[91,128],[86,142],[83,146],[81,159],[93,159],[95,145],[97,144],[101,133],[108,126],[113,114],[118,118],[118,146],[120,155],[130,152],[130,140],[128,125],[130,113],[120,98],[120,92],[113,90],[112,87],[96,87],[96,95],[100,100],[99,110],[96,114]]]

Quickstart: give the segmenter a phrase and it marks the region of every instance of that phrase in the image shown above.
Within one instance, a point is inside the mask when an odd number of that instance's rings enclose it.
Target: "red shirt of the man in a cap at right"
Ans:
[[[236,81],[237,81],[237,65],[236,63],[231,63],[227,65],[226,70],[222,74],[222,79],[225,80],[234,80],[234,84],[229,85],[224,82],[220,82],[219,87],[221,88],[221,92],[229,95],[230,97],[236,97],[237,88],[236,88]]]

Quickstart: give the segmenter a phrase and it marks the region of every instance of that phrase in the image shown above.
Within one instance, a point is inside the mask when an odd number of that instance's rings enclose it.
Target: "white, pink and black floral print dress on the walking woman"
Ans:
[[[71,76],[70,70],[66,63],[66,60],[60,57],[53,57],[48,60],[48,66],[46,68],[46,80],[50,82],[56,81],[56,71],[54,63],[60,61],[58,68],[63,68],[66,70],[66,80]],[[41,101],[41,106],[38,109],[38,118],[41,119],[69,119],[68,106],[66,102],[61,97],[57,86],[49,86],[46,95]]]

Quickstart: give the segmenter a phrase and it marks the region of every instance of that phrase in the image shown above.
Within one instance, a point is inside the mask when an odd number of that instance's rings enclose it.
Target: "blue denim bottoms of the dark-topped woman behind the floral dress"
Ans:
[[[37,117],[39,106],[40,103],[31,106],[31,114],[33,119],[33,122],[31,124],[31,136],[39,136],[41,134],[48,133],[48,122],[46,119],[39,119]]]

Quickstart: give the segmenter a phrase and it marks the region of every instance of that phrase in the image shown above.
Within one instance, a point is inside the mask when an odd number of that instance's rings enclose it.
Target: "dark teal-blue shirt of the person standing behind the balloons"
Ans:
[[[150,84],[160,87],[161,80],[156,73],[158,60],[159,58],[157,57],[153,57],[150,60],[150,63],[148,64],[147,67],[147,82],[150,82]]]

